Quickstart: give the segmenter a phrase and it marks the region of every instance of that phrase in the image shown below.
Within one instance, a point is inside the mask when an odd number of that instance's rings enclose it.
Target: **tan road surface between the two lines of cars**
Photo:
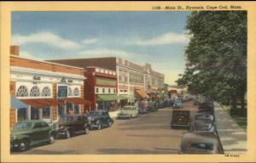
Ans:
[[[192,102],[183,104],[190,109],[192,117],[196,106]],[[88,135],[77,134],[69,139],[56,139],[53,144],[34,147],[15,155],[42,154],[177,154],[184,129],[171,129],[172,108],[139,115],[131,120],[115,120],[112,127],[90,131]]]

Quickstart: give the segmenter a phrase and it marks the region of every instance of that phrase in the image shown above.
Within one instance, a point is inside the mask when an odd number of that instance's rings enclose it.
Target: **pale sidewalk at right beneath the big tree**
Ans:
[[[218,103],[214,103],[214,108],[215,124],[224,154],[247,152],[247,132],[238,126],[236,121]]]

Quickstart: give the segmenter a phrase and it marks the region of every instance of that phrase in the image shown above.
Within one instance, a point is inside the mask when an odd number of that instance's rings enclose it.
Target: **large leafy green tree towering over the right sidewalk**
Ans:
[[[217,100],[232,100],[234,109],[239,97],[245,109],[247,12],[195,11],[186,30],[190,36],[187,64],[177,84]]]

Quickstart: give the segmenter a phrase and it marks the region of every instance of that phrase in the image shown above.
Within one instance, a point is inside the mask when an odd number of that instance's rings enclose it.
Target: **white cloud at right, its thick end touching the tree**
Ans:
[[[136,44],[140,46],[156,46],[186,42],[189,42],[189,36],[185,35],[184,33],[168,32],[166,34],[161,35],[160,37],[154,37],[149,40],[139,40],[131,44]]]

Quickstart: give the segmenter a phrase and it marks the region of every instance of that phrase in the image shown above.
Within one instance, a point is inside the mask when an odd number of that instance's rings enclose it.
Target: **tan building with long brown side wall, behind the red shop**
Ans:
[[[50,62],[83,67],[102,67],[117,73],[117,93],[134,102],[149,98],[147,93],[160,93],[164,88],[164,75],[152,70],[151,65],[137,65],[128,60],[108,57],[93,59],[56,59]],[[146,93],[145,93],[146,92]]]

